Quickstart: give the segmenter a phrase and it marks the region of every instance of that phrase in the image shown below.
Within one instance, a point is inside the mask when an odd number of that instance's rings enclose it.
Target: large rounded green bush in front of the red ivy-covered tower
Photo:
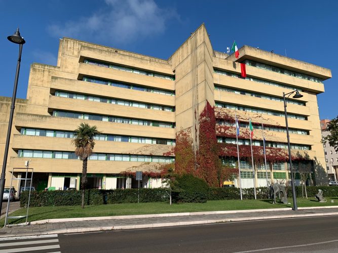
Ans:
[[[173,202],[205,203],[208,200],[208,184],[200,178],[185,174],[177,176],[172,184]]]

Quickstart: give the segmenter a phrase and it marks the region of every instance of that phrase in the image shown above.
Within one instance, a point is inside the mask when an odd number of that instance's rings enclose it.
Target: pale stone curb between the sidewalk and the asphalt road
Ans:
[[[20,234],[25,235],[44,235],[44,234],[61,234],[61,233],[82,233],[93,231],[106,231],[106,230],[128,230],[128,229],[144,229],[144,228],[163,228],[173,226],[189,226],[189,225],[201,225],[201,224],[215,224],[226,222],[243,222],[243,221],[257,221],[257,220],[271,220],[271,219],[285,219],[285,218],[303,218],[303,217],[321,217],[321,216],[334,216],[338,215],[338,212],[334,213],[322,213],[322,214],[304,214],[304,215],[279,215],[279,216],[266,216],[266,217],[247,217],[247,218],[230,218],[230,219],[218,219],[218,220],[200,220],[200,221],[182,221],[182,222],[168,222],[168,223],[149,223],[149,224],[136,224],[136,225],[123,225],[123,226],[106,226],[106,227],[86,227],[86,228],[70,228],[59,229],[53,231],[47,231],[43,233],[35,234]],[[13,235],[17,236],[17,235]],[[0,237],[12,237],[12,236],[0,236]]]

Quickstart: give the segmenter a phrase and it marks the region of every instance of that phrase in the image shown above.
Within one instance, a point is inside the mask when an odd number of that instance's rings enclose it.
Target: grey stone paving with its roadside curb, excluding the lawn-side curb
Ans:
[[[160,226],[165,227],[165,226],[203,224],[215,222],[282,219],[292,217],[325,216],[325,215],[338,215],[338,208],[302,209],[302,210],[298,209],[297,212],[294,212],[293,210],[276,210],[276,211],[249,212],[249,213],[187,215],[187,216],[171,216],[171,217],[44,223],[44,224],[2,228],[0,229],[0,237],[27,235],[27,234],[46,234],[53,232],[65,233],[65,232],[85,232],[85,231],[109,230],[109,229],[151,228]]]

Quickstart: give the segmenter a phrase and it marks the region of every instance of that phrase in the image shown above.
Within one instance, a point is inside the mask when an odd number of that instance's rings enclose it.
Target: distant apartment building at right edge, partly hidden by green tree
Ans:
[[[330,122],[329,119],[322,119],[320,120],[320,125],[322,128],[322,136],[326,137],[330,134],[329,131],[327,131],[327,124]],[[328,175],[329,181],[337,181],[338,178],[338,151],[334,149],[334,147],[331,147],[328,141],[323,143],[324,146],[324,153],[325,153],[325,165],[326,165],[326,171]]]

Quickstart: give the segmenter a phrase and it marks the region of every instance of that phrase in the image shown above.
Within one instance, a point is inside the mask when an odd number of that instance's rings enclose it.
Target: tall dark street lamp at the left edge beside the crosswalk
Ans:
[[[5,147],[5,155],[4,155],[4,163],[3,163],[3,170],[1,172],[0,177],[0,210],[3,207],[3,196],[4,196],[4,188],[5,188],[5,174],[6,174],[6,164],[7,164],[7,156],[8,156],[8,149],[10,144],[11,132],[12,132],[12,122],[13,122],[13,114],[15,108],[15,98],[16,98],[16,90],[18,87],[18,79],[19,79],[19,72],[20,72],[20,62],[21,62],[21,53],[22,53],[22,45],[25,44],[25,40],[21,37],[19,28],[14,32],[13,35],[7,37],[9,41],[19,44],[19,57],[18,63],[16,66],[16,73],[15,73],[15,80],[14,80],[14,89],[13,89],[13,96],[12,96],[12,104],[11,104],[11,113],[10,119],[8,122],[8,131],[7,131],[7,139],[6,139],[6,147]]]

